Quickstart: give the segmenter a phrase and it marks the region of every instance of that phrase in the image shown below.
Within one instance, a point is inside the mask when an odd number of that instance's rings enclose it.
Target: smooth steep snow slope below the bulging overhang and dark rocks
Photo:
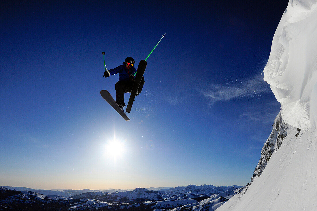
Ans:
[[[217,211],[317,210],[317,130],[288,127],[262,174]]]

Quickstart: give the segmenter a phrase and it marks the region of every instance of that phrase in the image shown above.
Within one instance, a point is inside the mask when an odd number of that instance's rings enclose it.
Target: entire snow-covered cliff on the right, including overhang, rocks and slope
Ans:
[[[221,210],[317,210],[317,0],[290,0],[264,71],[281,112],[243,191]]]

